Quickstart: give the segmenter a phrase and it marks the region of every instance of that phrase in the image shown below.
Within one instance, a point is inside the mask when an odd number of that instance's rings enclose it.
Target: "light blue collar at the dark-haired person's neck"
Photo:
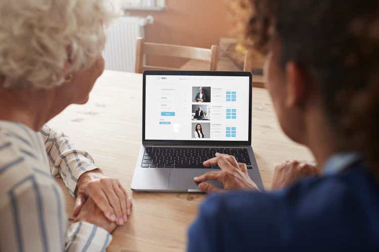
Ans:
[[[325,162],[322,173],[323,175],[339,173],[360,159],[361,155],[357,152],[342,152],[335,154]]]

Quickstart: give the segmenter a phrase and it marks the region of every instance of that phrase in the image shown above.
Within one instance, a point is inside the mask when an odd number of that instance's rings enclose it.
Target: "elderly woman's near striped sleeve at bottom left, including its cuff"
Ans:
[[[4,251],[105,251],[112,241],[105,229],[88,222],[67,229],[59,186],[43,177],[26,177],[9,191],[9,199],[9,211],[2,211],[3,224],[9,224],[0,238]]]

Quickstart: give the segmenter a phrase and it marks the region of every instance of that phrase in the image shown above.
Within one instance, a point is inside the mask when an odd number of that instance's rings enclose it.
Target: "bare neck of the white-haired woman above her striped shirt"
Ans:
[[[25,124],[39,131],[43,124],[57,114],[54,109],[54,90],[10,90],[0,87],[0,120]]]

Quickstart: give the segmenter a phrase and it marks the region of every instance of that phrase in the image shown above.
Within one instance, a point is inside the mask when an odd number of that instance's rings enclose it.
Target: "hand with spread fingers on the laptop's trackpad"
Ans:
[[[205,193],[224,192],[225,190],[258,190],[257,185],[249,177],[246,164],[238,163],[235,157],[216,153],[216,157],[208,159],[203,164],[205,166],[218,165],[221,171],[209,171],[203,175],[195,177],[195,182],[199,182],[199,188]],[[217,186],[204,182],[206,180],[220,181],[225,190]]]

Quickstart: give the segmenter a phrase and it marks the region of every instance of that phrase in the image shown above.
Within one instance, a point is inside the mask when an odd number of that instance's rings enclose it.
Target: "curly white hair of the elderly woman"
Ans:
[[[4,87],[49,89],[91,66],[104,47],[104,27],[116,17],[114,10],[110,0],[1,0]]]

